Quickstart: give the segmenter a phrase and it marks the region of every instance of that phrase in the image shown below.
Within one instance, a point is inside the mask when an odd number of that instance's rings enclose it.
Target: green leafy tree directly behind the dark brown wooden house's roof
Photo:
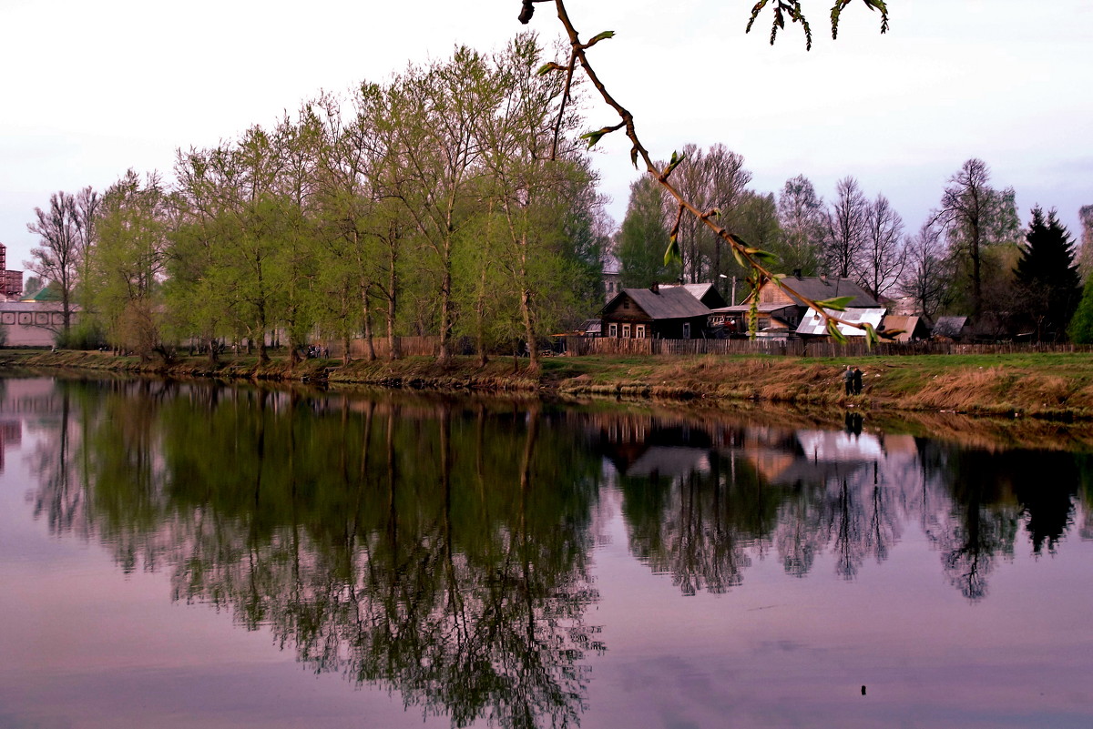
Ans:
[[[679,264],[669,268],[663,261],[668,244],[663,210],[655,179],[643,176],[631,183],[626,217],[615,243],[624,288],[645,288],[678,275]]]

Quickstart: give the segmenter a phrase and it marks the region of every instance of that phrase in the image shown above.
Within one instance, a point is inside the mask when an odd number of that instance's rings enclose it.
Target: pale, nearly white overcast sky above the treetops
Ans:
[[[0,242],[22,268],[35,207],[59,190],[105,190],[127,169],[172,179],[179,148],[272,126],[320,91],[384,82],[457,45],[500,50],[525,29],[518,0],[0,0]],[[884,194],[908,234],[949,178],[978,157],[1013,187],[1022,222],[1057,208],[1080,237],[1093,204],[1093,3],[888,0],[891,28],[855,1],[837,40],[831,0],[803,0],[772,47],[769,12],[744,34],[752,0],[569,0],[589,58],[634,115],[655,158],[686,143],[743,155],[752,188],[804,175],[831,199],[857,178]],[[553,4],[530,29],[561,37]],[[589,99],[588,129],[613,111]],[[622,222],[638,172],[621,133],[593,151],[608,212]]]

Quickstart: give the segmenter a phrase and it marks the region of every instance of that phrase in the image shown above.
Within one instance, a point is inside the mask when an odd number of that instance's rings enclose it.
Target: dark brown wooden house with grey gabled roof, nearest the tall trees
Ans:
[[[600,336],[696,339],[706,335],[709,307],[682,286],[624,288],[601,312]]]

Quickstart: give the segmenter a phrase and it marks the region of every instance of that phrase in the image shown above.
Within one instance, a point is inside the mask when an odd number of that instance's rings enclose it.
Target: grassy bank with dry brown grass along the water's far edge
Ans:
[[[861,395],[843,394],[847,364],[865,373]],[[538,373],[527,360],[470,357],[447,364],[423,357],[395,362],[257,357],[183,357],[172,366],[98,351],[0,350],[0,367],[68,368],[224,380],[326,382],[434,391],[548,393],[650,399],[772,402],[912,411],[1093,419],[1093,357],[1088,354],[927,355],[801,359],[769,356],[550,357]]]

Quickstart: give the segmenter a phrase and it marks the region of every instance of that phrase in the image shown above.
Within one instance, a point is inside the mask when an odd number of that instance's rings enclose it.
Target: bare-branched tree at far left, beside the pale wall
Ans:
[[[31,249],[33,261],[24,265],[39,277],[52,282],[61,295],[63,337],[72,326],[73,292],[79,280],[80,213],[75,198],[59,191],[49,195],[49,208],[34,208],[37,218],[26,229],[39,237],[40,246]]]

